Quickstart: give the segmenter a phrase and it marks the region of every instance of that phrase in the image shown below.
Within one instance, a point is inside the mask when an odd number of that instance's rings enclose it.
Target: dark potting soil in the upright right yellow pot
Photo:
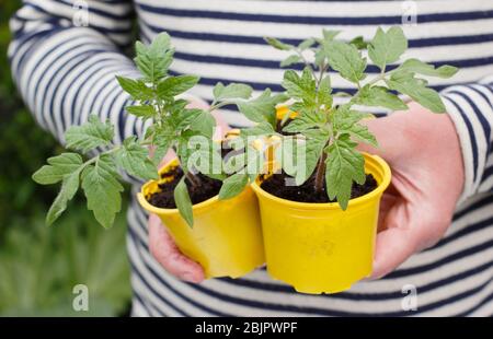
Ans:
[[[274,174],[266,178],[261,187],[265,191],[273,196],[299,202],[334,202],[335,200],[330,200],[325,192],[325,185],[320,192],[316,192],[314,187],[314,175],[312,175],[307,182],[301,186],[286,186],[286,179],[291,179],[286,173]],[[351,189],[351,199],[364,196],[375,188],[377,188],[377,180],[371,174],[366,175],[366,182],[363,185],[353,183],[353,188]]]

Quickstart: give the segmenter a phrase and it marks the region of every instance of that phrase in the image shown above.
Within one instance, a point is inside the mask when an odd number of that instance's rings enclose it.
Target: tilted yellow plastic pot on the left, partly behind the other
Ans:
[[[179,161],[173,160],[160,173],[176,166]],[[250,187],[232,199],[216,196],[194,204],[194,226],[190,227],[177,209],[161,209],[147,201],[159,190],[158,184],[151,180],[142,186],[140,204],[159,215],[180,250],[202,265],[206,278],[238,278],[265,262],[259,204]]]

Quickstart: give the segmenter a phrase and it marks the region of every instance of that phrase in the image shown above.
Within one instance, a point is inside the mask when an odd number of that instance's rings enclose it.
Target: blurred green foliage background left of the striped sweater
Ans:
[[[125,213],[103,230],[78,198],[55,223],[45,214],[58,187],[31,175],[62,151],[39,129],[16,93],[7,48],[20,0],[0,0],[0,316],[123,316],[130,305]],[[89,312],[74,312],[76,284],[89,289]]]

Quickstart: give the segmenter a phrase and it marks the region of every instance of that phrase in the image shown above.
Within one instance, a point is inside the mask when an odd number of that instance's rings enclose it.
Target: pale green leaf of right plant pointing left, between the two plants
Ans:
[[[259,97],[248,102],[237,102],[238,109],[251,121],[268,121],[276,124],[276,105],[286,101],[285,95],[272,95],[271,90],[266,89]]]

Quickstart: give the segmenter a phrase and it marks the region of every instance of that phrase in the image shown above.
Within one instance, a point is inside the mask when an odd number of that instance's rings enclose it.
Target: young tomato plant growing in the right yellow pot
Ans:
[[[337,199],[345,210],[353,183],[364,184],[366,179],[365,160],[356,147],[358,142],[377,145],[375,136],[362,124],[368,114],[359,112],[358,107],[408,109],[404,101],[397,95],[403,94],[434,113],[444,113],[445,106],[438,93],[417,74],[450,78],[457,68],[435,68],[417,59],[406,59],[399,67],[388,67],[399,61],[408,48],[408,40],[400,27],[391,27],[387,32],[378,28],[369,43],[365,43],[362,37],[345,43],[336,39],[337,34],[335,31],[323,31],[321,38],[309,38],[298,46],[275,38],[266,38],[266,42],[290,52],[280,63],[282,67],[305,65],[301,72],[285,71],[282,83],[293,102],[290,110],[299,114],[296,119],[283,125],[283,131],[295,133],[297,144],[305,148],[303,156],[297,156],[296,148],[283,151],[283,155],[296,159],[298,165],[302,164],[303,171],[294,171],[285,166],[284,161],[283,170],[296,177],[297,185],[314,175],[313,190],[320,192],[325,185],[329,199]],[[377,74],[370,77],[367,72],[364,54],[378,69]],[[308,61],[310,57],[313,62]],[[329,71],[353,83],[357,87],[356,93],[333,93]],[[335,105],[334,97],[337,96],[344,102]],[[264,121],[255,128],[272,135],[267,125]]]

